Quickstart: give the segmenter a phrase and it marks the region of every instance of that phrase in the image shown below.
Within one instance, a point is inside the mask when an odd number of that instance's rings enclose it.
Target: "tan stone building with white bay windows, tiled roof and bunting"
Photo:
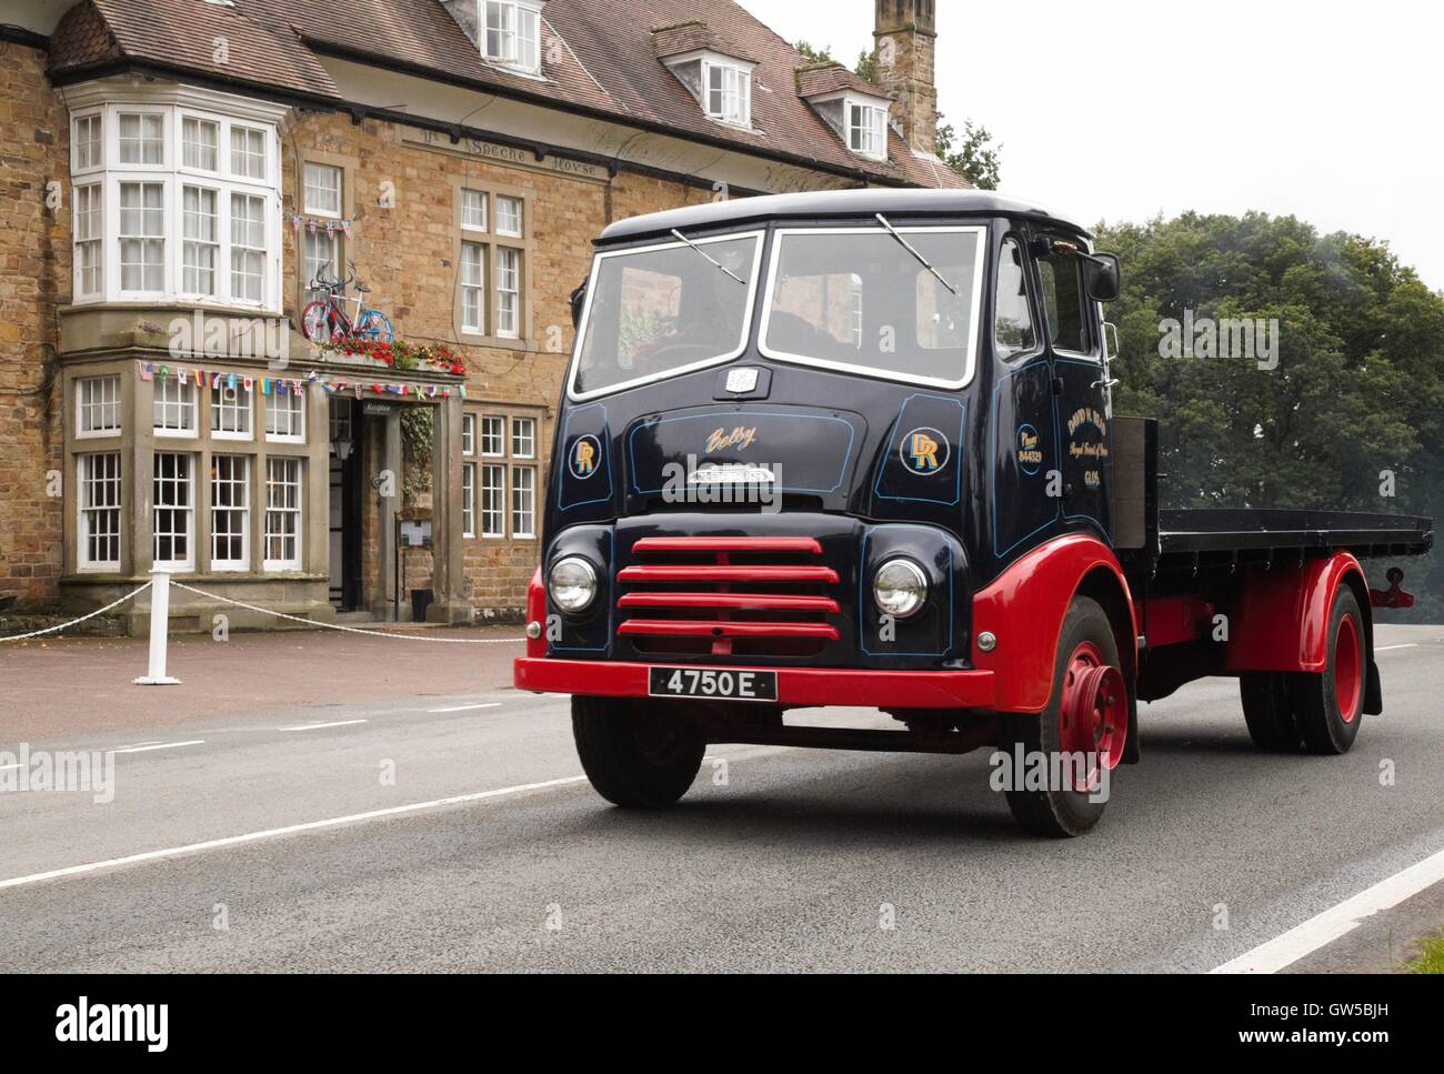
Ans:
[[[875,3],[882,85],[729,0],[7,4],[0,599],[162,567],[306,619],[520,608],[608,222],[966,185],[931,153],[933,3]],[[391,348],[303,336],[332,277]]]

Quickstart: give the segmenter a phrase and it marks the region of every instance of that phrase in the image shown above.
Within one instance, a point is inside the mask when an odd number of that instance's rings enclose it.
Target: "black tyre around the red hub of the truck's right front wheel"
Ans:
[[[1028,755],[1044,754],[1053,758],[1063,748],[1063,725],[1060,710],[1063,703],[1063,680],[1069,661],[1074,650],[1082,642],[1092,642],[1102,654],[1103,661],[1112,667],[1121,667],[1118,658],[1118,642],[1113,638],[1113,626],[1108,612],[1097,601],[1087,596],[1073,598],[1067,616],[1063,619],[1063,631],[1058,635],[1057,655],[1053,664],[1053,694],[1048,706],[1037,715],[1004,715],[1005,736],[1002,748],[1012,754],[1021,745]],[[1125,686],[1126,690],[1126,686]],[[1123,733],[1126,735],[1128,699],[1122,699]],[[1014,774],[1018,775],[1017,772]],[[1109,772],[1112,780],[1116,769]],[[1056,787],[1048,780],[1047,790],[1021,790],[1011,784],[1005,787],[1008,808],[1014,818],[1030,831],[1040,836],[1064,839],[1082,836],[1097,824],[1103,816],[1106,801],[1092,801],[1086,791],[1071,787]]]

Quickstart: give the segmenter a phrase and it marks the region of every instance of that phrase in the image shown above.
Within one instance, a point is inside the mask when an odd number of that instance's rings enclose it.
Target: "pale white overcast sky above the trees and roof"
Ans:
[[[872,0],[741,0],[852,64]],[[939,0],[941,110],[1002,191],[1084,224],[1294,214],[1386,240],[1444,290],[1444,4]]]

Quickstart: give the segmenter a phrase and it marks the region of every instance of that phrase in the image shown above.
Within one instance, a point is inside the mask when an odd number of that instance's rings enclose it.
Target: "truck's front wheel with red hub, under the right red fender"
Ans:
[[[1097,824],[1108,804],[1099,788],[1123,759],[1128,739],[1128,684],[1102,605],[1087,596],[1069,605],[1048,706],[1001,719],[1011,729],[1004,748],[1012,758],[1021,745],[1025,762],[1040,755],[1048,761],[1045,790],[1012,772],[1005,788],[1012,816],[1030,831],[1054,837],[1080,836]]]

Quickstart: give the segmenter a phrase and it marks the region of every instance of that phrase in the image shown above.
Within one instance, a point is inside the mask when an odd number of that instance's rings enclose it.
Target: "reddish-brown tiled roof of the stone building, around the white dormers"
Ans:
[[[133,59],[339,101],[318,58],[335,53],[872,182],[967,186],[897,131],[887,162],[851,153],[799,95],[806,58],[732,0],[550,0],[543,19],[546,78],[539,79],[488,64],[440,0],[84,0],[51,39],[51,71],[75,75]],[[752,130],[709,120],[660,62],[654,30],[696,23],[712,42],[703,48],[755,61]],[[676,36],[696,39],[692,33],[699,30]],[[215,38],[227,40],[225,62],[217,61]]]

